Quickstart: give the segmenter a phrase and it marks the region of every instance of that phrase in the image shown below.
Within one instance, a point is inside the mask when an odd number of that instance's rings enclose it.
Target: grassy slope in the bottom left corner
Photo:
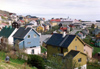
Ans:
[[[5,63],[5,57],[6,53],[0,51],[0,69],[24,69],[24,67],[26,67],[26,69],[37,69],[35,67],[29,67],[27,65],[24,65],[26,61],[21,59],[10,58],[10,64]]]

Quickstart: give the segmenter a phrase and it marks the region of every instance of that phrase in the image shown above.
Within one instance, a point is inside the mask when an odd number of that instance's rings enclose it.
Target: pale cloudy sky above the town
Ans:
[[[0,10],[46,19],[100,20],[100,0],[0,0]]]

